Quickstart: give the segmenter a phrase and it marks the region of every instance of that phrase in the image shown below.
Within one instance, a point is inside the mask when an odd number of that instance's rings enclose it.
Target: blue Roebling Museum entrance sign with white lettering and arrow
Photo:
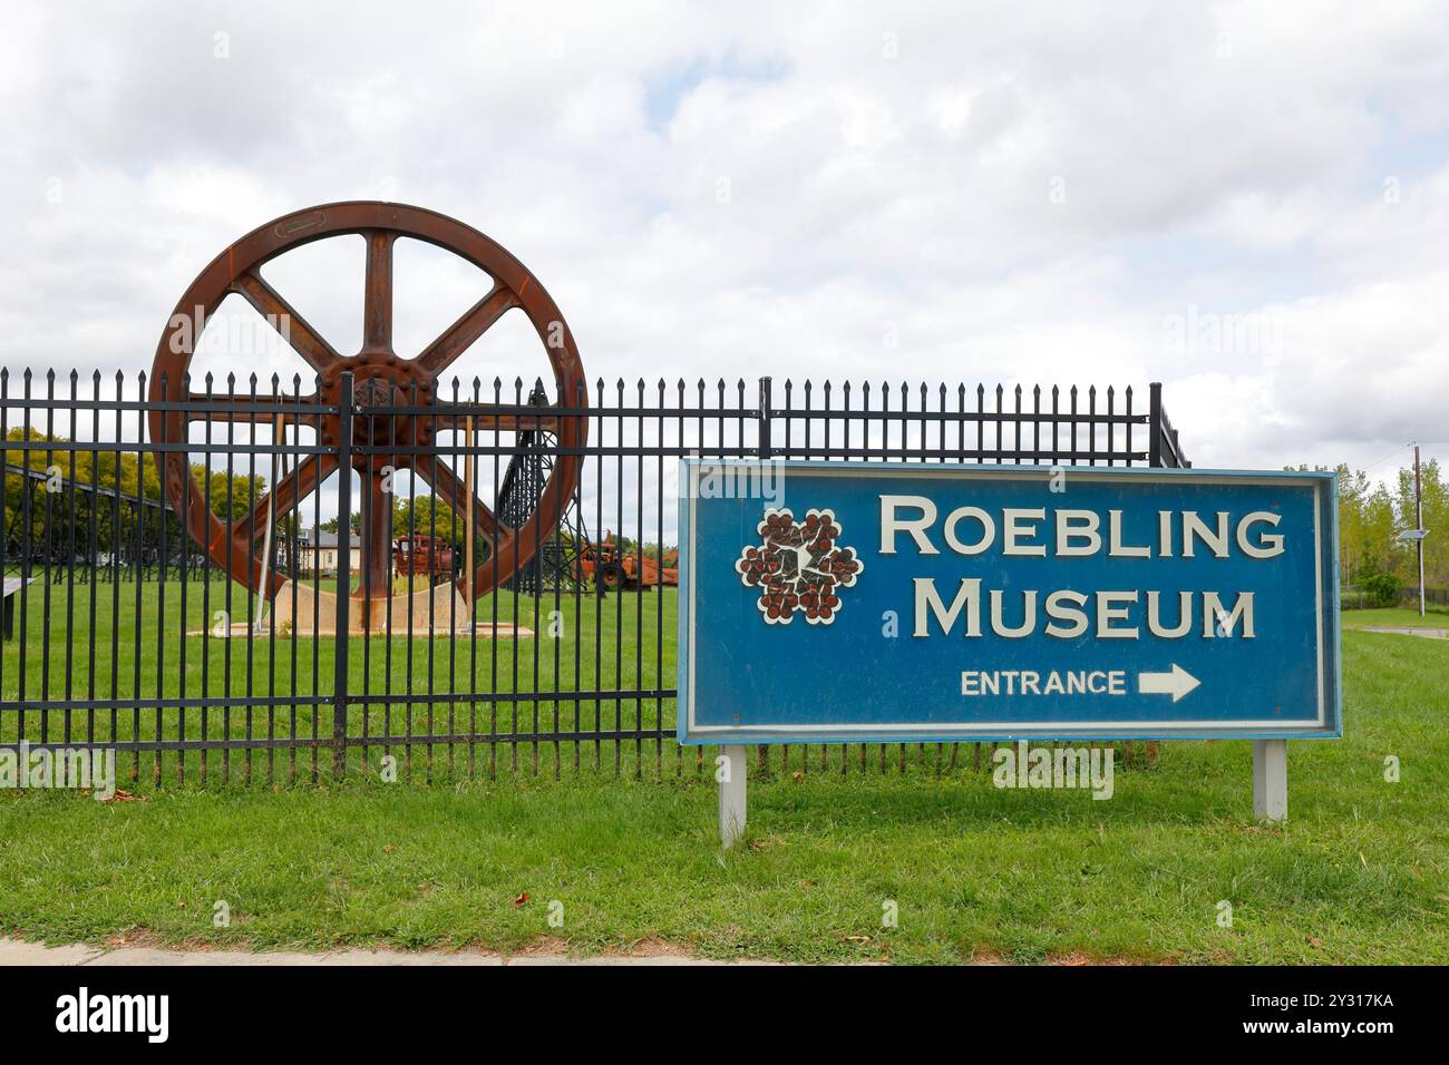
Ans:
[[[685,459],[685,743],[1339,736],[1333,474]]]

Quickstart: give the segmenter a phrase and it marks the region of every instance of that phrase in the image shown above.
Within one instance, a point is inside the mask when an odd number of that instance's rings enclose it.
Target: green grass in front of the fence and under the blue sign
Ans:
[[[143,781],[146,801],[0,798],[0,927],[254,948],[664,940],[790,961],[1449,962],[1449,648],[1346,632],[1343,651],[1345,738],[1290,745],[1285,827],[1253,822],[1248,742],[1165,743],[1152,768],[1119,765],[1110,801],[997,790],[985,765],[942,768],[935,749],[922,765],[911,748],[906,772],[894,753],[885,772],[849,755],[843,775],[839,758],[829,772],[751,758],[748,845],[729,853],[688,755],[645,780]],[[888,901],[898,926],[882,929]]]

